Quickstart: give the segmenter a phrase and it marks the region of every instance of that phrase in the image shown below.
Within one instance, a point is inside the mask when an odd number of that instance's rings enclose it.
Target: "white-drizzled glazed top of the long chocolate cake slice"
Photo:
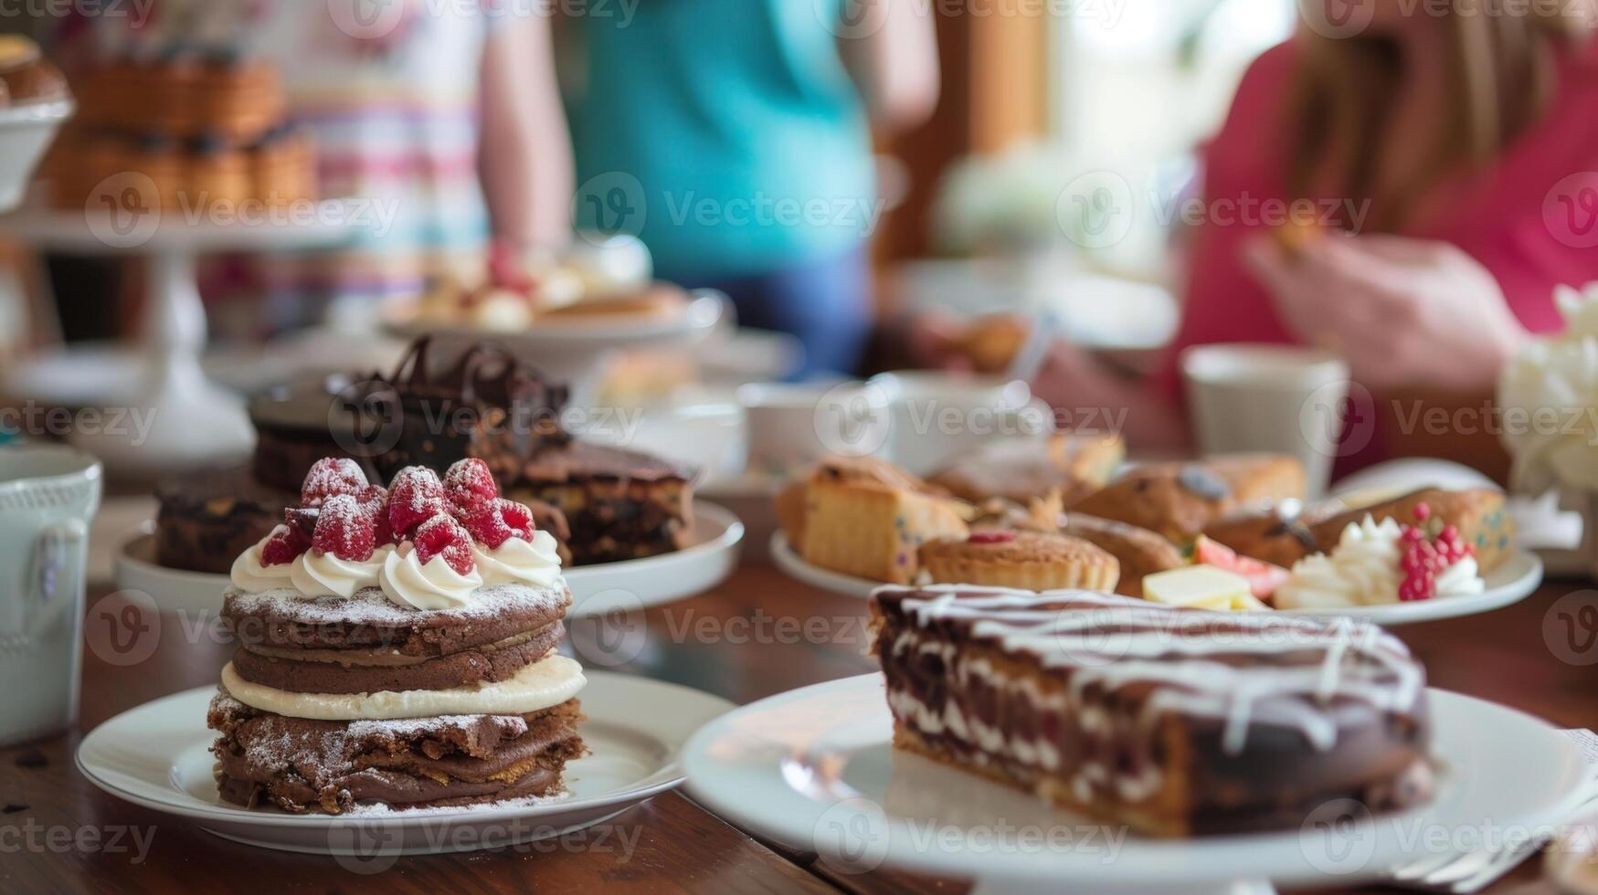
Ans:
[[[1296,729],[1314,748],[1331,750],[1338,738],[1336,700],[1406,713],[1424,686],[1424,671],[1403,642],[1347,619],[1322,623],[1173,611],[1088,591],[1037,595],[957,585],[882,591],[909,596],[903,606],[919,626],[962,620],[970,623],[973,636],[1034,655],[1048,668],[1069,670],[1067,690],[1075,705],[1082,705],[1088,687],[1115,692],[1128,684],[1152,684],[1141,724],[1165,714],[1219,719],[1222,748],[1230,754],[1243,750],[1253,726]],[[911,647],[928,649],[912,631],[893,644],[895,652]],[[1245,665],[1221,660],[1288,654],[1310,658]],[[978,662],[959,663],[951,673],[960,681],[978,676],[989,686],[1008,684]],[[928,716],[938,718],[936,713],[914,718],[919,724]],[[1091,706],[1083,706],[1080,722],[1083,730],[1109,732],[1109,718]],[[975,724],[972,732],[976,745],[989,748]],[[1013,750],[1012,754],[1021,758]]]

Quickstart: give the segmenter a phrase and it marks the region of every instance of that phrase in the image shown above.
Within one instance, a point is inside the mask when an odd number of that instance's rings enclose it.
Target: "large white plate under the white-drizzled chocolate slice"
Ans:
[[[775,695],[710,722],[682,753],[692,796],[729,821],[845,869],[1194,892],[1269,877],[1349,885],[1416,853],[1416,834],[1531,829],[1588,774],[1579,748],[1518,711],[1430,690],[1437,794],[1413,812],[1283,833],[1154,841],[892,746],[880,674]],[[1424,842],[1424,839],[1422,839]]]

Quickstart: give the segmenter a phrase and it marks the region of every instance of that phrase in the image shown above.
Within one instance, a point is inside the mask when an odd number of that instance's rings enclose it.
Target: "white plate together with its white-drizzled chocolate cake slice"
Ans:
[[[880,674],[741,706],[682,758],[700,804],[845,871],[1355,884],[1424,829],[1531,829],[1582,798],[1574,743],[1429,689],[1366,622],[973,585],[869,607]]]

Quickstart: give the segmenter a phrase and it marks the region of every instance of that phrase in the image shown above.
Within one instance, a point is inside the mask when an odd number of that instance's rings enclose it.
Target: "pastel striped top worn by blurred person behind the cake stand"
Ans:
[[[339,307],[417,294],[438,270],[483,270],[478,75],[491,19],[420,5],[380,40],[345,34],[326,3],[268,0],[254,50],[278,62],[289,109],[316,141],[324,197],[358,197],[348,249],[257,265],[272,304]],[[276,299],[276,300],[273,300]]]

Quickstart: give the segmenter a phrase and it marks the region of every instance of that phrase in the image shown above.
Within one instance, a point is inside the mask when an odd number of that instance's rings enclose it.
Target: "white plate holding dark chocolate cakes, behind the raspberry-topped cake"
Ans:
[[[743,523],[730,511],[694,502],[694,543],[674,553],[577,566],[566,571],[572,588],[569,619],[663,606],[703,593],[738,566]],[[155,523],[129,532],[112,559],[118,590],[147,593],[163,612],[216,612],[227,575],[184,572],[155,563]]]

